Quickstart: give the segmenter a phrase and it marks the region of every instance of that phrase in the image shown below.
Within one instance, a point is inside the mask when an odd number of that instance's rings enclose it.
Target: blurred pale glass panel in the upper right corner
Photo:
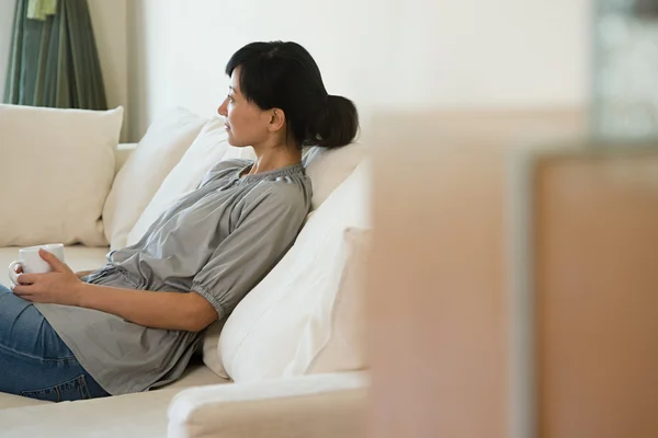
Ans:
[[[658,138],[658,0],[594,4],[594,134]]]

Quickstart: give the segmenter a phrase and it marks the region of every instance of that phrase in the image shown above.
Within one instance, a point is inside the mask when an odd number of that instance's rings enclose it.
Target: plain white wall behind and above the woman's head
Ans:
[[[173,105],[214,112],[226,61],[258,39],[306,46],[328,91],[355,100],[364,117],[390,107],[582,105],[590,1],[133,0],[131,134]]]

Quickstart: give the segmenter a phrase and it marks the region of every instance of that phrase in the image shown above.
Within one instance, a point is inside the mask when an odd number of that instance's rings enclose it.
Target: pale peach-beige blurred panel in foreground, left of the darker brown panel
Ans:
[[[574,110],[375,118],[371,437],[508,436],[507,154],[585,127]]]

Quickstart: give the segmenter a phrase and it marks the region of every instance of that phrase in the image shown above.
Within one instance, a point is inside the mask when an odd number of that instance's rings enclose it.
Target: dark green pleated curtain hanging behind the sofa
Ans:
[[[107,108],[87,0],[18,0],[4,103]]]

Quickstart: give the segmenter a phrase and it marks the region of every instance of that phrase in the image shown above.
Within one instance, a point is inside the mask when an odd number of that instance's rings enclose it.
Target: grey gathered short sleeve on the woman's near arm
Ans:
[[[293,244],[307,214],[290,191],[268,191],[242,212],[194,277],[192,291],[226,318]]]

